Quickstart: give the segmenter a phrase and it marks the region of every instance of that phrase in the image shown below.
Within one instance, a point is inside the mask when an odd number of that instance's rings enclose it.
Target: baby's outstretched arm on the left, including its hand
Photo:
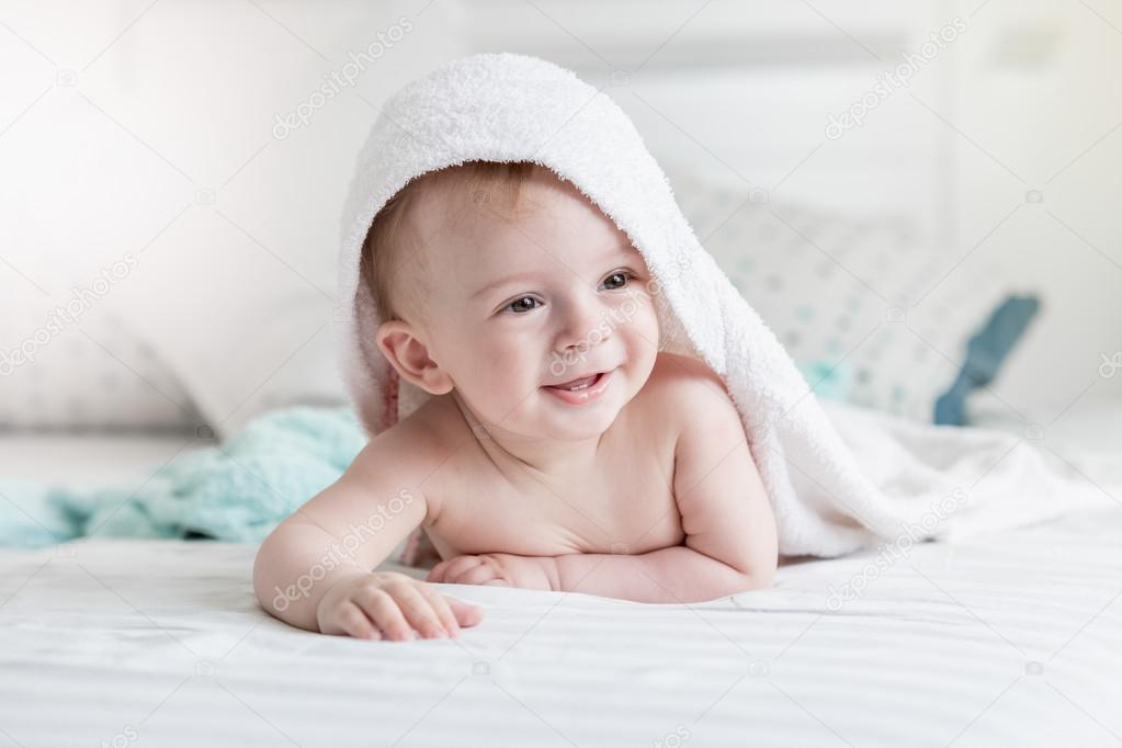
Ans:
[[[478,609],[421,580],[374,571],[427,515],[416,480],[423,452],[395,430],[384,432],[282,521],[254,565],[261,607],[303,629],[374,638],[408,638],[411,627],[454,635],[478,622]]]

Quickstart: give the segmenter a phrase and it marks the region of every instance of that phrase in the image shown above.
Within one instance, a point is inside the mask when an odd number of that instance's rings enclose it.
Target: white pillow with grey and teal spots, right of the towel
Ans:
[[[822,396],[932,422],[967,341],[1008,294],[1000,274],[956,269],[958,256],[900,215],[849,218],[692,174],[672,184],[698,239]]]

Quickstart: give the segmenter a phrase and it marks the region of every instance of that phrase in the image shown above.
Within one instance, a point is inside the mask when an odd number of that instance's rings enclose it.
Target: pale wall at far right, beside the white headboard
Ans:
[[[993,0],[971,24],[955,48],[950,220],[959,256],[983,243],[956,273],[999,258],[1045,294],[997,391],[1018,407],[1116,397],[1122,370],[1098,369],[1122,359],[1122,8]]]

